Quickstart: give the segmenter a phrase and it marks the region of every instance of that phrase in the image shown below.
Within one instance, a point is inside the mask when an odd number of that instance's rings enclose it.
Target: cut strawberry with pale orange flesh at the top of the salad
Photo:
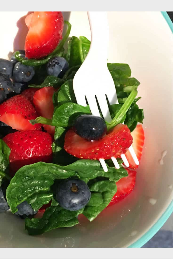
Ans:
[[[25,55],[39,59],[54,51],[62,39],[64,18],[61,12],[34,12],[25,23],[29,28],[25,40]]]

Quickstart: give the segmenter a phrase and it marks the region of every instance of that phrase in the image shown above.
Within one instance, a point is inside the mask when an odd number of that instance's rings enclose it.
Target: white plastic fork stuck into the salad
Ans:
[[[91,46],[89,52],[77,71],[73,79],[73,90],[77,103],[86,106],[89,104],[91,113],[100,116],[96,103],[98,100],[103,118],[110,122],[110,112],[106,100],[109,104],[118,104],[115,85],[107,67],[108,45],[109,45],[109,25],[106,12],[87,12],[91,29]],[[134,162],[138,165],[139,161],[133,150],[129,147],[129,152]],[[124,154],[121,155],[123,163],[129,167],[129,163]],[[119,163],[115,157],[111,157],[115,168],[119,169]],[[105,160],[99,159],[105,172],[108,171]]]

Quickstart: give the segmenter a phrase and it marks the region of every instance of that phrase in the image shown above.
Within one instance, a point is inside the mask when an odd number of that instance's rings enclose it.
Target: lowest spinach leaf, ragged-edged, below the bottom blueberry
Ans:
[[[39,235],[44,232],[59,227],[72,227],[79,223],[77,216],[82,213],[82,209],[78,211],[68,211],[58,206],[51,206],[46,209],[41,219],[25,219],[25,229],[29,235]]]

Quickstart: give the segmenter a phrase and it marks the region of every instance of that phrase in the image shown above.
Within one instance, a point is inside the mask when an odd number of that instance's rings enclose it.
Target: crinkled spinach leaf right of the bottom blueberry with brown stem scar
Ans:
[[[116,193],[116,184],[113,181],[97,181],[89,184],[91,199],[85,206],[83,214],[92,221],[106,208]]]

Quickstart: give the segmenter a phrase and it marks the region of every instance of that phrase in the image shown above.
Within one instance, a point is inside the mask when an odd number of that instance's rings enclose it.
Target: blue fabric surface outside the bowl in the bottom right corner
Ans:
[[[172,248],[172,231],[160,230],[142,248]]]

